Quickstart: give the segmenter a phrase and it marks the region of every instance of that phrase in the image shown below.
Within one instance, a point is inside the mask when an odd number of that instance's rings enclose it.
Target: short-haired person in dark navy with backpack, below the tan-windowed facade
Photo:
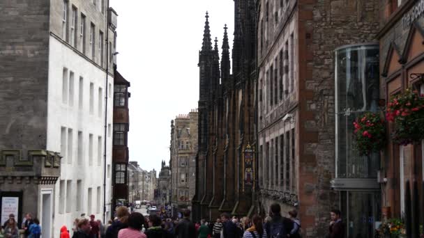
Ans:
[[[271,222],[266,223],[265,228],[268,233],[268,237],[286,238],[289,232],[293,229],[293,221],[281,216],[281,207],[278,203],[273,203],[270,210]]]

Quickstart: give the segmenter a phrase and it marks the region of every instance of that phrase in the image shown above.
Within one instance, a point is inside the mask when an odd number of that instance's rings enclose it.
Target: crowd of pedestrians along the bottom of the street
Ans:
[[[215,223],[208,223],[202,219],[198,223],[190,221],[190,210],[183,211],[183,219],[161,219],[156,214],[144,217],[139,212],[128,211],[128,207],[116,209],[116,218],[106,225],[96,220],[94,215],[90,219],[82,216],[75,219],[72,228],[72,238],[300,238],[301,222],[297,219],[296,210],[289,212],[289,217],[281,216],[281,207],[278,203],[271,205],[270,214],[262,218],[254,215],[239,219],[227,213],[220,215]],[[39,238],[41,235],[38,219],[27,214],[22,229],[24,237]],[[343,238],[345,225],[342,224],[340,211],[331,211],[331,223],[328,229],[329,238]],[[0,238],[19,238],[15,216],[10,214],[8,221],[0,228]],[[68,228],[63,225],[60,229],[60,238],[70,238]]]

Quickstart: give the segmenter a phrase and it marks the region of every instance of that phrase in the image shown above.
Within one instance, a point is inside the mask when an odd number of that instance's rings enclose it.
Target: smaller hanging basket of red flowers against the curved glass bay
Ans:
[[[379,152],[386,145],[386,127],[378,113],[365,113],[354,122],[356,149],[361,155]]]

